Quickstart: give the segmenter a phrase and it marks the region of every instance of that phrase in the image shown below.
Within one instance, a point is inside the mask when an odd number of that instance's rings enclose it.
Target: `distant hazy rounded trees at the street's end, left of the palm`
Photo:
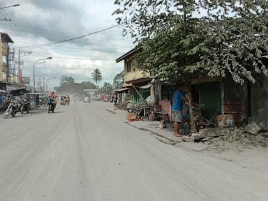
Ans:
[[[57,94],[83,94],[84,89],[96,89],[92,82],[75,83],[73,77],[62,76],[59,87],[55,87]]]

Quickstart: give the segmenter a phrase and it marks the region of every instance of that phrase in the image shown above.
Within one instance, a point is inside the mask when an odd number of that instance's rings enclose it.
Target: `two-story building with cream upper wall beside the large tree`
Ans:
[[[134,48],[119,57],[116,61],[124,61],[124,89],[131,89],[135,103],[143,101],[151,95],[149,83],[152,78],[150,73],[142,68],[142,62],[138,61]]]

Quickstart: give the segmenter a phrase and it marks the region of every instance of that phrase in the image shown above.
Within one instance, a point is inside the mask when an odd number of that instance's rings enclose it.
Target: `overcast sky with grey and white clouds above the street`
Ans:
[[[83,34],[105,29],[116,24],[116,9],[113,0],[1,0],[0,7],[20,3],[20,6],[0,10],[0,18],[11,18],[12,22],[0,21],[0,31],[14,40],[14,47],[32,51],[22,57],[23,75],[31,76],[34,61],[53,57],[45,64],[36,66],[36,77],[57,77],[50,86],[59,83],[61,75],[71,75],[75,82],[91,81],[94,68],[101,69],[103,82],[110,82],[124,69],[124,64],[115,63],[134,47],[131,38],[124,38],[122,28],[114,28],[100,34],[75,40],[72,43],[34,48],[58,40],[65,40]],[[18,50],[18,49],[16,49]],[[71,59],[70,59],[71,58]],[[17,67],[17,66],[16,66]]]

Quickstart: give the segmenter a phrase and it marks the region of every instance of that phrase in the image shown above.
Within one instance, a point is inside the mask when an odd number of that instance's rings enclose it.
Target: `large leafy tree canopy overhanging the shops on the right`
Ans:
[[[156,77],[200,75],[255,82],[268,75],[268,4],[265,0],[116,0],[144,68]]]

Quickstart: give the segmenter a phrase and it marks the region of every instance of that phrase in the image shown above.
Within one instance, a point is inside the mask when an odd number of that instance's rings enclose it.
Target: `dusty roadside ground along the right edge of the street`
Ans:
[[[193,152],[200,157],[208,156],[232,162],[242,168],[268,174],[268,138],[266,135],[239,134],[215,137],[207,142],[182,142],[172,135],[172,127],[158,129],[158,121],[135,121],[129,123],[137,129],[147,131],[161,142]],[[235,132],[234,130],[232,132]]]

